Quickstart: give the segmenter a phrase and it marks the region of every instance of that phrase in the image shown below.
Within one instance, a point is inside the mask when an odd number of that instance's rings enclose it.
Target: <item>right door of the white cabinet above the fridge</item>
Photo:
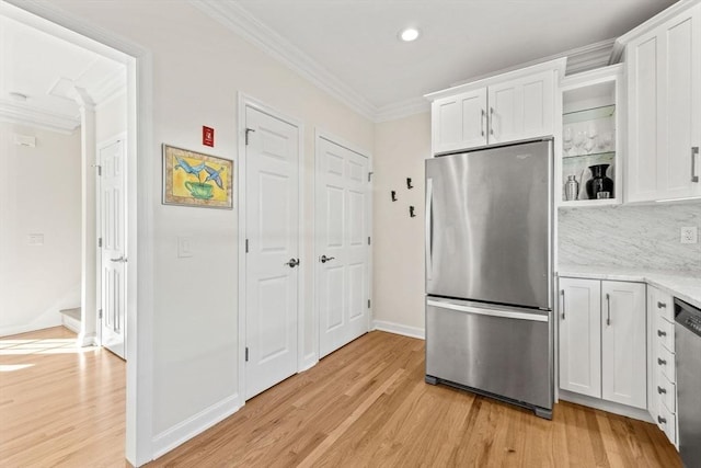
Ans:
[[[553,134],[553,72],[544,71],[489,88],[490,144]]]

